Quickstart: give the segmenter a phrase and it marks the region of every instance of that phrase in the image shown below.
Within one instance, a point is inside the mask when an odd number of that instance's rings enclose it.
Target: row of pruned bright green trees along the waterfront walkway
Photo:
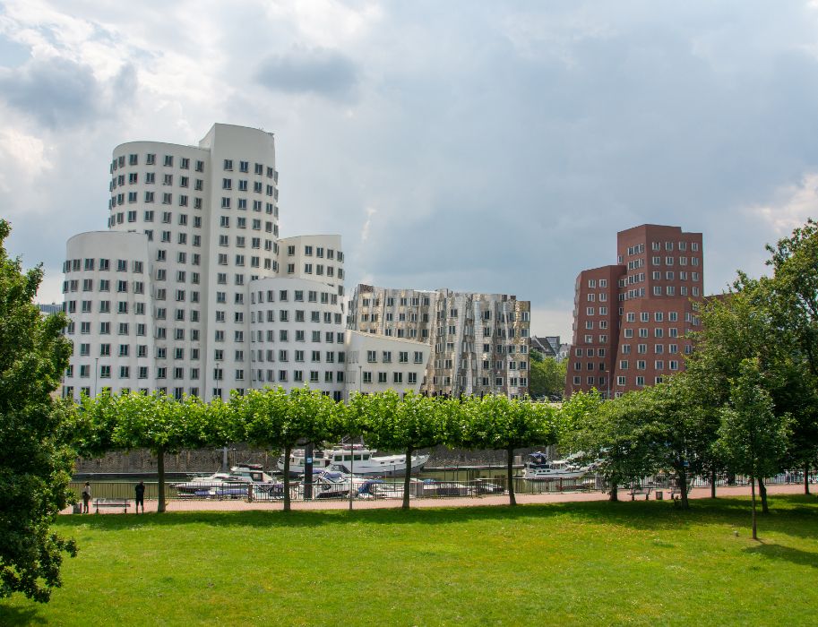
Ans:
[[[72,406],[66,405],[71,412]],[[289,457],[307,442],[362,436],[385,451],[412,453],[438,444],[504,450],[509,499],[515,504],[512,460],[516,449],[548,445],[560,435],[560,412],[547,404],[504,396],[445,399],[394,391],[354,394],[349,404],[321,391],[251,390],[228,402],[175,400],[165,394],[103,393],[83,398],[74,410],[71,431],[76,451],[97,457],[108,451],[149,449],[157,458],[158,511],[165,511],[164,456],[182,449],[247,442],[284,455],[284,510],[289,511]],[[403,507],[409,508],[410,464],[404,477]]]

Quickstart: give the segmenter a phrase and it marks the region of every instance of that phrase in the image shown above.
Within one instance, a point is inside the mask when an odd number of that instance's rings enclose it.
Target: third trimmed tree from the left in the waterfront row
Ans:
[[[446,441],[444,403],[457,402],[428,398],[406,392],[401,399],[397,392],[388,390],[371,395],[369,399],[353,397],[353,406],[363,418],[366,442],[376,449],[405,451],[406,471],[403,476],[404,510],[409,509],[412,453]]]

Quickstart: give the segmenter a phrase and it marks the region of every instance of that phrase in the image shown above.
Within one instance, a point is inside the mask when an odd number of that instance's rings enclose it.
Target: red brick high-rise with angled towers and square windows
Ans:
[[[703,297],[702,234],[644,224],[616,235],[616,265],[581,271],[565,396],[605,398],[685,369]]]

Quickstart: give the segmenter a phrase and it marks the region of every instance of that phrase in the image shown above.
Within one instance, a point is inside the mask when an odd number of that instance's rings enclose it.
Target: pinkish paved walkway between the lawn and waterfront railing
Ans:
[[[669,497],[669,491],[664,491],[664,496]],[[749,496],[750,486],[725,486],[719,487],[717,494],[719,497],[729,496]],[[804,494],[804,485],[768,485],[767,494]],[[709,487],[693,488],[690,492],[691,499],[704,499],[710,497]],[[620,490],[619,498],[622,501],[629,501],[630,495],[627,490]],[[637,496],[637,499],[643,499],[643,496]],[[655,494],[651,493],[651,498],[655,498]],[[607,501],[608,495],[601,492],[564,492],[561,494],[517,494],[517,502],[520,504],[529,503],[548,503],[548,502],[580,502],[580,501]],[[375,510],[399,508],[400,499],[383,499],[383,500],[358,500],[352,502],[352,507],[355,510]],[[486,505],[507,505],[508,495],[492,494],[479,497],[441,497],[441,498],[413,498],[411,502],[412,508],[418,507],[476,507]],[[145,502],[145,512],[155,512],[157,502],[148,500]],[[298,510],[345,510],[349,508],[349,501],[293,501],[292,509]],[[283,502],[280,501],[256,501],[246,502],[242,500],[224,500],[224,501],[182,501],[173,500],[168,501],[167,511],[280,511],[284,509]],[[133,516],[133,499],[131,499],[131,507],[129,514]],[[66,508],[60,513],[70,514],[72,508]],[[93,512],[93,507],[91,507]],[[123,514],[121,509],[105,509],[100,510],[100,514]]]

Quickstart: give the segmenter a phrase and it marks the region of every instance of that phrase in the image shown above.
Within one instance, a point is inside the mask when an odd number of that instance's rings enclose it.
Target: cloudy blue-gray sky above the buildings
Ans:
[[[62,300],[108,161],[275,133],[280,234],[340,233],[348,290],[530,300],[571,339],[616,231],[704,236],[705,290],[818,217],[818,2],[0,0],[0,217]]]

